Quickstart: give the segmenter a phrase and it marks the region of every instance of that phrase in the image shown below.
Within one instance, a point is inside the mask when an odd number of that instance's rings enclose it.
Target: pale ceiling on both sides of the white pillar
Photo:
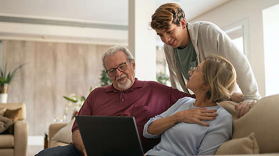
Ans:
[[[191,20],[227,1],[155,0],[155,3],[158,8],[175,2],[183,8],[186,19]],[[128,25],[128,0],[0,0],[0,15]]]

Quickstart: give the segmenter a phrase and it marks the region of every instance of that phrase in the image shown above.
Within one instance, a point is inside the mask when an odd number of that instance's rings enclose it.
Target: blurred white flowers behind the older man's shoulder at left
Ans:
[[[92,91],[92,86],[90,87],[89,93]],[[68,102],[66,104],[65,111],[63,113],[62,121],[65,122],[67,119],[67,114],[70,110],[80,111],[83,102],[85,101],[85,97],[82,96],[81,98],[77,97],[75,94],[70,94],[68,97],[63,96],[63,98],[67,99]],[[73,108],[74,107],[74,108]]]

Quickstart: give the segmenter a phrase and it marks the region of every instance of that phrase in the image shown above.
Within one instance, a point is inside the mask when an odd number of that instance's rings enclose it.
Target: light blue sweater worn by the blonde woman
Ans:
[[[156,119],[170,116],[174,113],[198,108],[194,106],[195,99],[185,97],[179,99],[164,113],[152,117],[144,126],[143,135],[146,138],[159,138],[161,142],[149,150],[146,155],[151,156],[188,156],[188,155],[214,155],[218,147],[230,140],[232,135],[232,117],[221,106],[207,107],[216,109],[218,116],[215,120],[203,121],[210,126],[198,124],[179,123],[167,129],[161,135],[148,134],[148,126]]]

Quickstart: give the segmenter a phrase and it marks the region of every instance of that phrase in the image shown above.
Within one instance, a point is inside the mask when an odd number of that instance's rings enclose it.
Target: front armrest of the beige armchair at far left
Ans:
[[[27,156],[28,125],[24,120],[18,120],[14,126],[14,156]]]

